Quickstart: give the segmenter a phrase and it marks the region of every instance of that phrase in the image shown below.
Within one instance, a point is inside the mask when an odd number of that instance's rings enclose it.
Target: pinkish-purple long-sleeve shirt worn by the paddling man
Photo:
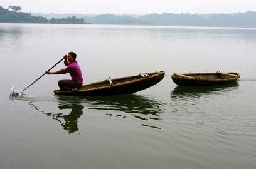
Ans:
[[[59,70],[58,74],[70,73],[72,81],[83,83],[82,71],[77,61],[73,62],[72,64],[67,62],[65,63],[65,65],[67,66],[67,68]]]

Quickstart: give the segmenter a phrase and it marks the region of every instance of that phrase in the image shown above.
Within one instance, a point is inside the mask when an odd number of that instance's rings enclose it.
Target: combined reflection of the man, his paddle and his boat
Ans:
[[[57,101],[57,109],[41,111],[38,106],[41,101],[49,101],[46,98],[23,98],[29,101],[29,105],[43,115],[49,116],[51,119],[58,121],[64,130],[68,133],[74,133],[79,130],[78,119],[83,114],[83,109],[102,110],[105,115],[116,118],[127,118],[127,115],[143,121],[142,126],[161,129],[156,126],[156,121],[161,120],[161,113],[164,112],[164,103],[157,101],[151,96],[141,95],[119,95],[119,96],[62,96],[54,95],[53,103]],[[35,100],[35,101],[33,101]],[[41,101],[40,101],[41,100]],[[38,105],[36,105],[38,103]],[[59,111],[60,112],[59,112]],[[70,110],[70,111],[67,111]],[[70,112],[70,113],[67,113]],[[124,113],[122,113],[124,112]],[[154,125],[151,120],[156,120]]]

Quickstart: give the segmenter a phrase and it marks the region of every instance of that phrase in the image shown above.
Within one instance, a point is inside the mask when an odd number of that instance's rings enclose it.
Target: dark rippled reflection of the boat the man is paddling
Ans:
[[[152,98],[146,98],[140,95],[118,95],[118,96],[102,96],[102,97],[74,97],[74,96],[61,96],[55,95],[58,100],[61,101],[80,101],[86,104],[90,110],[107,110],[111,113],[106,113],[106,115],[113,116],[115,112],[122,111],[128,113],[135,118],[143,121],[148,120],[161,120],[159,116],[164,112],[164,103],[161,103]],[[116,117],[122,116],[126,118],[125,115],[115,115]],[[155,126],[145,125],[153,128],[158,128]]]

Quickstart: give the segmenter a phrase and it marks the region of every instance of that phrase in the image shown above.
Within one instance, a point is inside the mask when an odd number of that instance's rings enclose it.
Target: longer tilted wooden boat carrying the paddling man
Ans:
[[[164,71],[153,73],[140,73],[137,76],[128,76],[124,78],[110,79],[83,85],[78,90],[61,91],[55,90],[58,95],[73,96],[110,96],[124,95],[144,90],[156,85],[164,78]]]

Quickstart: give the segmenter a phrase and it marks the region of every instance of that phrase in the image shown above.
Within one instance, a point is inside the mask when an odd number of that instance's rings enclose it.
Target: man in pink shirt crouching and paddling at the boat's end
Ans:
[[[71,80],[60,80],[58,81],[58,86],[60,90],[70,90],[73,88],[80,88],[83,85],[82,72],[79,64],[75,59],[77,58],[77,54],[70,52],[68,55],[63,56],[64,64],[67,66],[65,69],[61,69],[59,71],[50,72],[45,71],[46,74],[66,74],[70,73]]]

